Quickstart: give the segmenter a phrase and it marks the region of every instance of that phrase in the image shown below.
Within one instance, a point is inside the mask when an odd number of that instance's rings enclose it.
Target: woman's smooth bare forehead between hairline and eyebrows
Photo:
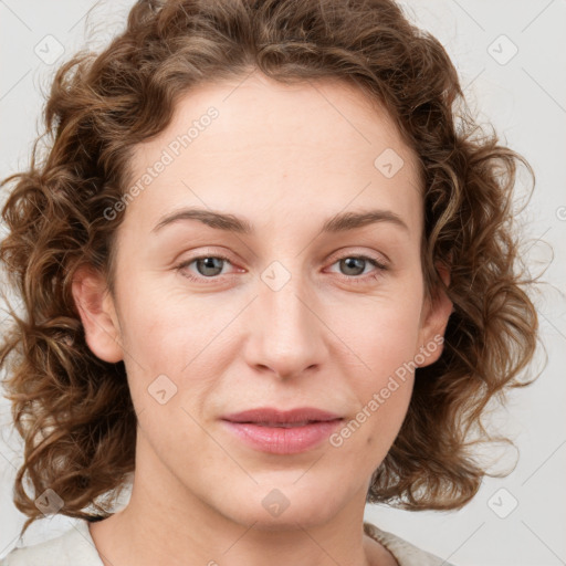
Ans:
[[[417,164],[392,119],[354,85],[255,73],[179,97],[167,128],[135,148],[130,185],[148,182],[126,219],[148,231],[164,212],[199,205],[250,217],[276,207],[308,221],[350,203],[395,208],[417,227]]]

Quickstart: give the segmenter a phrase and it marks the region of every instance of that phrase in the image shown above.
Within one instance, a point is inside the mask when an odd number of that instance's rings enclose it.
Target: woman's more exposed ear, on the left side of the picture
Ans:
[[[112,364],[124,359],[116,310],[104,275],[82,265],[73,276],[71,289],[92,353]]]

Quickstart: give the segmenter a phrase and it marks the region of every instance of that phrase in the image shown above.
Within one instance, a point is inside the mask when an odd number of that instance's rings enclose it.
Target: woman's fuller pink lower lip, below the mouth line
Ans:
[[[342,419],[311,422],[303,427],[262,427],[251,422],[224,420],[228,428],[248,446],[272,454],[296,454],[311,450],[327,439]]]

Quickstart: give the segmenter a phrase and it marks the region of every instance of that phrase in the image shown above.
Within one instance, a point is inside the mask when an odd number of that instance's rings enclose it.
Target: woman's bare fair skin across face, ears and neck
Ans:
[[[127,206],[115,295],[91,270],[74,279],[87,344],[101,359],[124,360],[139,422],[130,502],[91,525],[95,545],[114,566],[395,565],[363,520],[412,374],[339,448],[266,454],[220,418],[310,406],[347,422],[443,335],[452,304],[443,294],[426,300],[417,156],[352,86],[289,86],[255,72],[185,95],[168,127],[136,147],[133,182],[209,106],[219,117]],[[386,148],[403,159],[391,178],[374,166]],[[255,234],[197,220],[151,232],[164,214],[192,206],[244,217]],[[407,228],[382,221],[321,233],[338,212],[375,208]],[[219,253],[230,262],[212,277],[199,262],[176,269]],[[387,270],[361,262],[348,271],[339,261],[364,254]],[[290,274],[277,291],[261,279],[275,261]],[[164,405],[148,392],[163,374],[177,387]],[[279,516],[262,505],[273,489],[289,501]]]

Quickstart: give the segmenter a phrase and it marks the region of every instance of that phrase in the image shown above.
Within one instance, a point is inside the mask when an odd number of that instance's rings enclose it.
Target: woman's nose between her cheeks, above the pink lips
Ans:
[[[256,289],[259,296],[245,321],[248,364],[284,379],[319,369],[327,354],[328,331],[316,313],[317,301],[307,283],[293,275],[277,289],[268,276],[260,279]]]

